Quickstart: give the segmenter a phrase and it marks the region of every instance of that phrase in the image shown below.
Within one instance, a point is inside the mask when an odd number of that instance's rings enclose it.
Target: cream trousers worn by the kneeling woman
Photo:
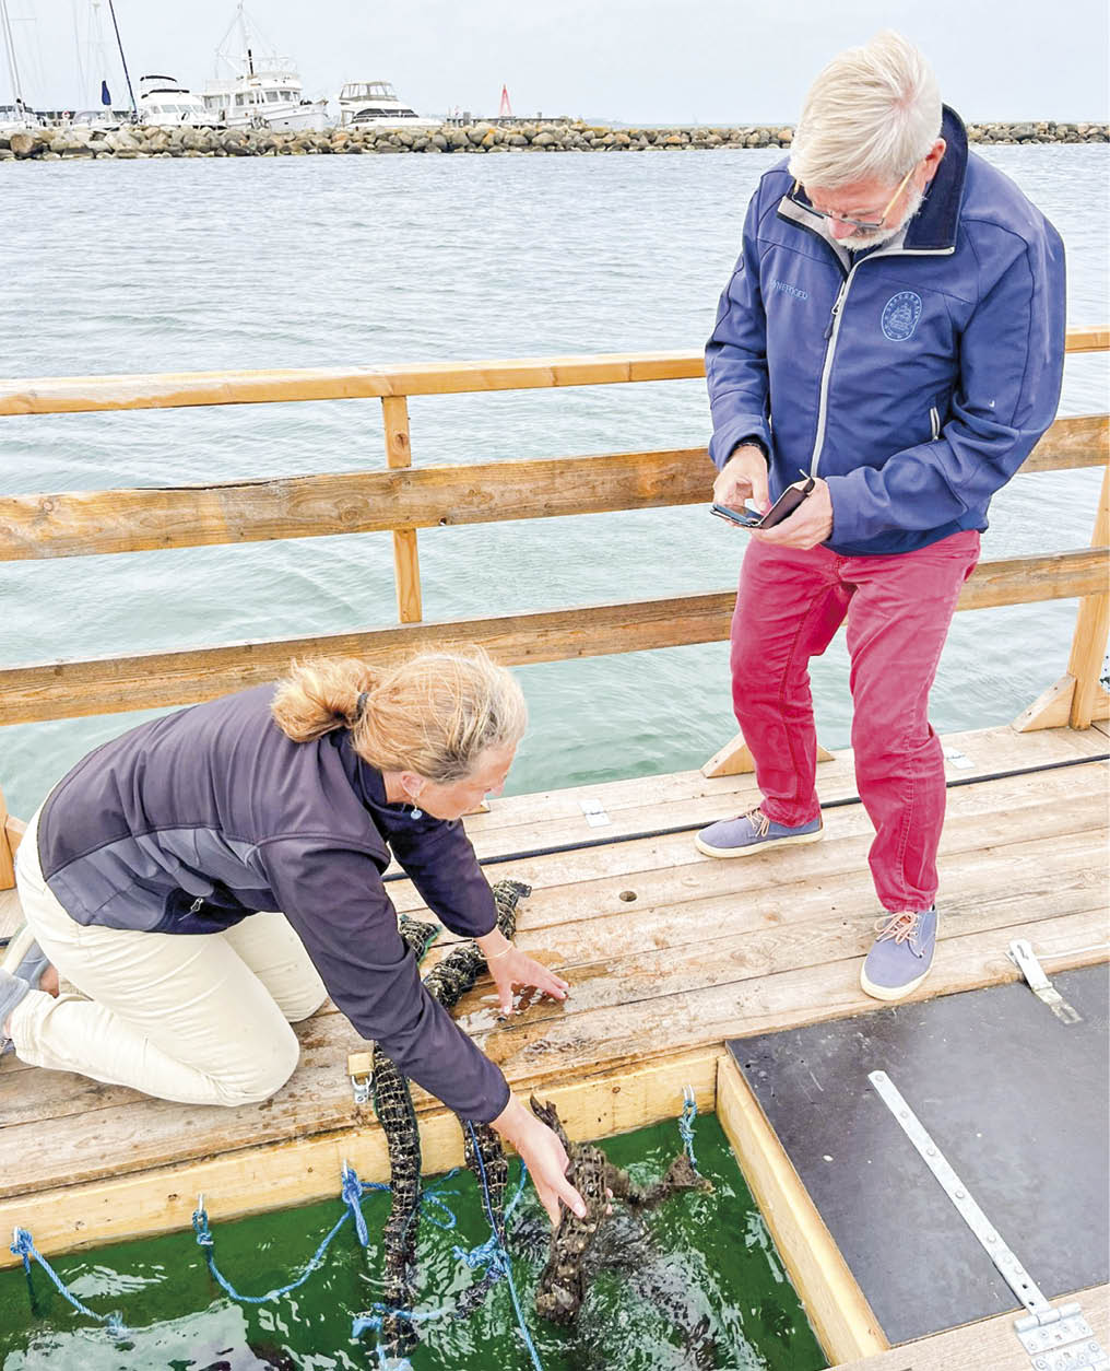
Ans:
[[[19,1060],[182,1104],[255,1104],[285,1084],[300,1053],[289,1024],[326,998],[285,916],[214,934],[85,927],[42,880],[37,828],[36,814],[16,857],[23,916],[81,995],[36,990],[16,1005]]]

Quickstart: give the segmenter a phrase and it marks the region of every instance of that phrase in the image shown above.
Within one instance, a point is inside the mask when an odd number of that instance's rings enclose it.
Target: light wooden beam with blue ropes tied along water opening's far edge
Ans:
[[[619,1075],[589,1073],[544,1091],[574,1139],[600,1139],[677,1117],[682,1087],[691,1084],[699,1111],[717,1101],[719,1045],[676,1053]],[[388,1180],[381,1128],[369,1112],[351,1127],[277,1146],[245,1148],[223,1157],[188,1161],[140,1175],[62,1186],[37,1196],[0,1201],[0,1226],[27,1228],[45,1254],[188,1230],[196,1197],[204,1193],[208,1216],[225,1222],[248,1213],[310,1204],[338,1194],[340,1167],[348,1158],[363,1180]],[[462,1132],[455,1115],[437,1109],[419,1123],[426,1175],[462,1165]],[[64,1172],[58,1172],[63,1175]],[[0,1245],[0,1268],[18,1261]]]

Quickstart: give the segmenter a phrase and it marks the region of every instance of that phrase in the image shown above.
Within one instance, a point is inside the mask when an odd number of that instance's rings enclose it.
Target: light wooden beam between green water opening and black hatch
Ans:
[[[729,1058],[717,1072],[717,1117],[830,1363],[889,1348],[848,1263],[810,1200],[751,1087]]]

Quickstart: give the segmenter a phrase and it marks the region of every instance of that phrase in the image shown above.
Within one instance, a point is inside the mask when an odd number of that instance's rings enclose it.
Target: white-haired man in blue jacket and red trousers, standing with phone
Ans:
[[[861,980],[880,999],[932,964],[946,791],[929,688],[991,496],[1052,421],[1063,333],[1055,229],[969,154],[922,55],[883,33],[835,58],[751,200],[706,348],[714,500],[806,495],[751,533],[732,629],[763,799],[696,842],[741,857],[822,836],[807,664],[847,620],[884,910]]]

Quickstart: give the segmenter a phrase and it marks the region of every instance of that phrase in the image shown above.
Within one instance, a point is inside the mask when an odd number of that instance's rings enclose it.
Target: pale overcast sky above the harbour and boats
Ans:
[[[97,103],[118,58],[93,59],[108,0],[7,0],[27,101]],[[214,74],[232,0],[115,0],[132,78]],[[252,0],[247,14],[295,59],[304,95],[392,81],[421,114],[569,114],[624,123],[792,123],[817,71],[893,27],[932,60],[944,99],[974,119],[1107,119],[1107,0]],[[82,37],[78,40],[78,34]],[[82,81],[84,74],[84,81]],[[0,53],[0,103],[11,99]]]

